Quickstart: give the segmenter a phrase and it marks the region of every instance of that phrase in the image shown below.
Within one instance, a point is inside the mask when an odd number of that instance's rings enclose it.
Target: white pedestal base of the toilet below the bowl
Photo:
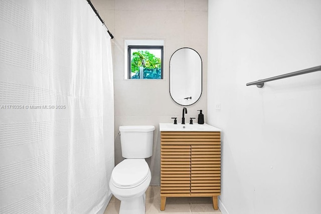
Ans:
[[[146,194],[120,201],[119,214],[145,214]]]

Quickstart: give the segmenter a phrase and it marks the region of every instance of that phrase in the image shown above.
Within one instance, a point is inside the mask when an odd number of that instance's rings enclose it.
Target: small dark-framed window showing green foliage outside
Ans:
[[[127,79],[163,79],[164,46],[127,47]]]

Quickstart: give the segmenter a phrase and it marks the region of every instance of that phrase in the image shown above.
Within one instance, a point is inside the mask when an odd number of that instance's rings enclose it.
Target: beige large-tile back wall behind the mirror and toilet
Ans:
[[[203,93],[200,100],[187,106],[189,117],[199,109],[207,115],[207,18],[208,0],[92,0],[114,35],[115,97],[115,164],[121,157],[118,127],[120,125],[154,125],[153,156],[147,159],[151,168],[151,185],[159,185],[160,152],[158,123],[181,122],[183,106],[175,103],[169,92],[169,64],[180,48],[196,50],[203,61]],[[124,79],[124,40],[165,40],[164,80]]]

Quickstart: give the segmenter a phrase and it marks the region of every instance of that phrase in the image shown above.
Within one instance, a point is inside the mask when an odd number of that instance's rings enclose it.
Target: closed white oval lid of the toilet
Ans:
[[[119,188],[132,188],[146,179],[148,171],[145,159],[125,159],[112,170],[111,180]]]

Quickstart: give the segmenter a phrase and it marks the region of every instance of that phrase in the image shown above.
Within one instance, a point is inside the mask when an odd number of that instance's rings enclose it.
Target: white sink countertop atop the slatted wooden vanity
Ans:
[[[173,124],[159,123],[159,131],[221,131],[209,124]]]

